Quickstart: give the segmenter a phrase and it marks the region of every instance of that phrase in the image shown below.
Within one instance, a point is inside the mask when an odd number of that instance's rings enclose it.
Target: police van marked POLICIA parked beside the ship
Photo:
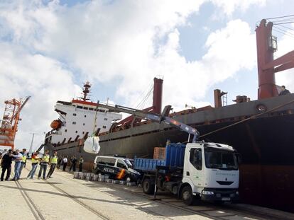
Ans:
[[[134,170],[133,163],[130,160],[117,156],[96,156],[93,173],[109,175],[110,178],[116,180],[138,182],[141,174]]]

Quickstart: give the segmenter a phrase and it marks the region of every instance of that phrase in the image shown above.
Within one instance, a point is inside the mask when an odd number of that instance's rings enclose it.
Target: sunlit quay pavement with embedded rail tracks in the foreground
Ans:
[[[28,161],[23,177],[30,168]],[[0,219],[294,219],[288,212],[247,204],[188,207],[164,192],[153,201],[141,187],[78,180],[61,170],[48,180],[0,182],[0,193]]]

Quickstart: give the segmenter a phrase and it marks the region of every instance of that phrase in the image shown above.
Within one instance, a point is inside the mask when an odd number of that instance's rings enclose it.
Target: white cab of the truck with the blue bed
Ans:
[[[188,143],[180,196],[186,204],[195,197],[215,202],[239,199],[239,168],[232,146]]]

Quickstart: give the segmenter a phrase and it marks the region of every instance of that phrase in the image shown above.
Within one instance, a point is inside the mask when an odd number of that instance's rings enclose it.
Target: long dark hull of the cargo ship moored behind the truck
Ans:
[[[291,139],[294,130],[294,106],[293,103],[283,106],[283,103],[294,100],[294,95],[287,96],[263,100],[262,104],[267,109],[280,105],[281,108],[251,119],[247,117],[260,113],[252,112],[251,109],[256,110],[258,101],[220,109],[223,112],[198,112],[198,115],[196,112],[177,119],[197,127],[202,135],[208,134],[200,137],[200,140],[229,144],[241,154],[241,202],[294,212],[294,142]],[[244,116],[242,112],[249,114]],[[199,113],[206,119],[205,123],[199,123],[198,120],[202,120]],[[216,120],[207,120],[212,113]],[[227,117],[226,114],[232,117]],[[218,120],[218,117],[226,120]],[[209,134],[210,132],[212,133]],[[153,148],[165,146],[167,139],[177,143],[185,142],[187,138],[188,135],[178,129],[151,123],[101,136],[99,154],[121,154],[129,158],[152,157]],[[89,162],[94,161],[95,156],[85,153],[79,142],[50,150],[57,150],[63,156],[82,155]],[[91,168],[90,163],[87,166]]]

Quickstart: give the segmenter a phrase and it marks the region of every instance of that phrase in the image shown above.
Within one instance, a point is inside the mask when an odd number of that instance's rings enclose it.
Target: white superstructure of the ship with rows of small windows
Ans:
[[[85,83],[84,87],[82,99],[73,99],[72,102],[58,101],[56,103],[55,111],[58,112],[60,117],[51,123],[53,129],[46,134],[46,142],[60,145],[77,141],[77,139],[90,136],[93,132],[107,132],[114,121],[121,120],[121,114],[109,112],[104,108],[97,108],[96,103],[89,102],[87,100],[89,83]]]

